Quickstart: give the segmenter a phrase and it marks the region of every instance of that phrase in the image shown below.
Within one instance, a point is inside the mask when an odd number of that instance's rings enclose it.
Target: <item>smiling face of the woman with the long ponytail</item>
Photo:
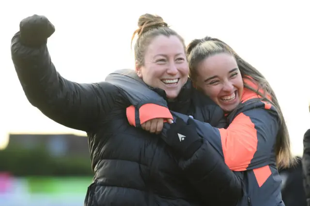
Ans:
[[[196,86],[224,111],[232,111],[241,101],[243,81],[233,55],[219,53],[197,66]]]

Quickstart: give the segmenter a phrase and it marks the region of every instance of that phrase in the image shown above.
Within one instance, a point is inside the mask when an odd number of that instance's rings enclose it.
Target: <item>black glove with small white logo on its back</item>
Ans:
[[[162,133],[161,138],[184,159],[192,157],[203,144],[203,139],[196,131],[196,123],[191,118],[188,118],[187,123],[176,118],[175,123],[170,125],[165,135]]]

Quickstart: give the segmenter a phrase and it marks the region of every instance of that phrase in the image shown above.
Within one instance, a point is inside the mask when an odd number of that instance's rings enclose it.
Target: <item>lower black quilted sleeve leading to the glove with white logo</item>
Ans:
[[[185,122],[188,121],[189,117],[186,115],[172,111],[171,113],[175,119],[182,118]],[[199,193],[206,205],[235,206],[243,196],[242,177],[239,176],[241,174],[231,171],[223,161],[222,156],[219,155],[218,148],[212,145],[207,138],[203,138],[205,135],[204,123],[200,123],[196,126],[200,138],[193,138],[193,136],[187,134],[184,136],[188,140],[184,146],[189,147],[182,149],[181,142],[183,140],[170,145],[181,157],[179,166],[187,180],[193,186],[193,189]],[[162,131],[161,138],[166,142],[167,139],[172,137],[171,133],[169,133],[170,127],[171,125],[166,123]],[[181,154],[181,150],[184,151],[183,154]]]

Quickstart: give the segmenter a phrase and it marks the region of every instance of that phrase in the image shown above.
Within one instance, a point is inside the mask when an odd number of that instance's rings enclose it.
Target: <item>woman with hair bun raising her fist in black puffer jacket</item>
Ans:
[[[12,60],[29,102],[48,118],[87,133],[94,178],[84,206],[234,206],[242,196],[240,178],[207,142],[195,155],[195,144],[176,154],[157,134],[139,128],[160,129],[156,119],[171,121],[168,107],[217,126],[222,110],[192,88],[181,36],[156,15],[141,15],[138,26],[136,73],[122,71],[139,82],[129,92],[115,79],[79,84],[63,78],[48,53],[55,28],[45,16],[23,19],[12,39]],[[153,96],[135,102],[143,89]],[[156,95],[165,101],[158,105]],[[133,111],[126,109],[130,105]],[[136,127],[128,123],[130,112],[146,110],[156,113],[136,118]],[[144,124],[150,119],[155,121]],[[205,162],[197,162],[198,156]]]

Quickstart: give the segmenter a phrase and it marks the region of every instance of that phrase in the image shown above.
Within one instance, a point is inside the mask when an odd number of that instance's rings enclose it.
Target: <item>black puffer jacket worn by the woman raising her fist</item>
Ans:
[[[195,176],[196,171],[207,175],[212,170],[213,176],[229,181],[214,185],[210,176],[204,178],[210,184],[189,182],[178,166],[178,158],[165,142],[155,134],[129,125],[126,107],[132,102],[121,88],[108,82],[78,84],[64,79],[56,72],[47,45],[26,47],[20,43],[19,33],[12,39],[11,52],[29,102],[48,118],[87,132],[94,181],[88,189],[85,206],[208,206],[208,198],[214,198],[208,196],[208,191],[215,186],[230,191],[218,203],[225,200],[230,206],[242,195],[239,179],[217,156],[211,161],[217,162],[216,165],[210,163],[210,167],[189,164],[191,175]],[[194,95],[187,86],[178,100],[182,105],[172,103],[171,109],[187,115],[202,113],[193,109],[193,102],[206,99],[198,98],[199,94]],[[215,108],[210,105],[203,112],[219,111]],[[217,114],[210,113],[204,118],[213,115]],[[202,149],[212,155],[211,148]],[[193,190],[191,184],[198,188]],[[206,198],[198,199],[197,191],[205,193]]]

